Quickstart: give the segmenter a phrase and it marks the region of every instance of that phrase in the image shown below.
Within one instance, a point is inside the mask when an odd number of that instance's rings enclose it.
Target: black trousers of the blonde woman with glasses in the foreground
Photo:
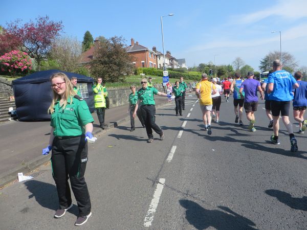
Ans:
[[[85,136],[72,139],[54,138],[52,144],[51,166],[59,198],[59,209],[65,209],[72,203],[68,179],[77,200],[79,215],[91,212],[91,199],[84,178],[87,162],[87,142]]]

